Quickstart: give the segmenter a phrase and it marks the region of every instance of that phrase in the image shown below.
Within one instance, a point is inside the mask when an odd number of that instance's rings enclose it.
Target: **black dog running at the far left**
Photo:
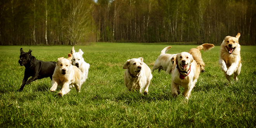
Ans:
[[[37,60],[36,57],[31,55],[32,50],[23,52],[21,48],[21,55],[19,56],[19,64],[25,66],[24,79],[22,81],[21,88],[17,91],[22,91],[25,85],[28,85],[32,81],[37,79],[50,77],[52,80],[52,74],[56,66],[56,62],[45,62]],[[32,76],[29,80],[28,78]]]

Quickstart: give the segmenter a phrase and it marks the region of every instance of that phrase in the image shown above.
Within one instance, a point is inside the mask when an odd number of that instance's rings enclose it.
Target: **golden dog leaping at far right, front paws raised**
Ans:
[[[230,81],[230,76],[233,73],[234,80],[238,80],[237,76],[241,71],[242,64],[240,57],[240,45],[238,42],[239,37],[240,33],[237,33],[235,37],[226,36],[220,45],[219,64],[228,81]]]

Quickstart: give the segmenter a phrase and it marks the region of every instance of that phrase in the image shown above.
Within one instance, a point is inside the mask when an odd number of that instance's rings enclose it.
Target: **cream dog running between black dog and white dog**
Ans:
[[[58,95],[63,96],[67,94],[70,89],[69,85],[75,86],[76,91],[80,92],[81,88],[81,70],[71,64],[72,55],[68,54],[68,58],[58,58],[54,74],[52,75],[51,92],[54,92],[57,86],[61,86],[61,91]]]

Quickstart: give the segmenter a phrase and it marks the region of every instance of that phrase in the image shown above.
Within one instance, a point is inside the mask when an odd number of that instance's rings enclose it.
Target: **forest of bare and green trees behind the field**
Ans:
[[[0,0],[0,45],[256,44],[256,0]]]

